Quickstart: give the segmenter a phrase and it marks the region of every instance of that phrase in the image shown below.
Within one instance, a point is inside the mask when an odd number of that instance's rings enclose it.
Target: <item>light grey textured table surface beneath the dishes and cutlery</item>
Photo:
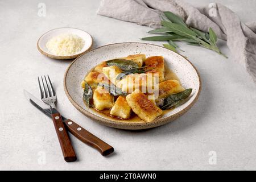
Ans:
[[[40,2],[46,5],[45,17],[38,16]],[[199,6],[210,1],[189,2]],[[255,20],[256,1],[217,2],[245,22]],[[117,130],[99,125],[72,106],[63,89],[71,62],[41,55],[36,48],[40,35],[57,27],[81,28],[93,36],[96,48],[142,42],[139,38],[151,30],[96,15],[99,3],[0,1],[0,169],[256,169],[256,86],[223,42],[221,49],[229,59],[181,43],[201,74],[203,89],[195,106],[168,125]],[[79,160],[64,162],[52,121],[23,96],[23,89],[38,96],[36,77],[46,73],[54,80],[60,112],[112,144],[113,155],[103,157],[72,136]]]

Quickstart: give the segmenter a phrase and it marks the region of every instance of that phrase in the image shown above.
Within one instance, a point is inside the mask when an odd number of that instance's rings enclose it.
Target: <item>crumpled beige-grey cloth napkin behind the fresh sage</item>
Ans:
[[[158,28],[162,11],[179,15],[188,26],[202,31],[212,27],[218,38],[227,40],[235,60],[256,82],[256,22],[242,23],[220,3],[195,8],[180,0],[102,0],[97,14]]]

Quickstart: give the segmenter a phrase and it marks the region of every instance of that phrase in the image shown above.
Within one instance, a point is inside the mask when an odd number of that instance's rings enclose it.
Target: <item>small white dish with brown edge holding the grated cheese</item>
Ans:
[[[81,51],[76,52],[73,55],[68,55],[68,56],[60,56],[60,55],[54,55],[52,52],[50,52],[47,47],[46,43],[48,42],[49,39],[58,36],[60,34],[75,34],[77,36],[80,36],[81,39],[84,40],[84,47],[81,49]],[[46,33],[44,33],[39,39],[38,39],[38,50],[43,54],[48,57],[51,57],[52,59],[74,59],[82,53],[85,53],[92,47],[93,39],[88,32],[79,30],[77,28],[56,28],[53,30],[50,30]]]

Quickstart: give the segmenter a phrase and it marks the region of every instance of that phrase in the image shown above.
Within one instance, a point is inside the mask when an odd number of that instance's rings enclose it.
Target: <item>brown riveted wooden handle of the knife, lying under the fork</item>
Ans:
[[[65,126],[67,126],[68,130],[73,135],[75,135],[76,138],[80,139],[82,142],[88,144],[89,146],[96,148],[101,153],[101,155],[109,155],[114,151],[114,148],[108,143],[102,141],[100,138],[91,134],[89,131],[83,129],[71,119],[67,119],[66,121],[64,121],[64,123]]]

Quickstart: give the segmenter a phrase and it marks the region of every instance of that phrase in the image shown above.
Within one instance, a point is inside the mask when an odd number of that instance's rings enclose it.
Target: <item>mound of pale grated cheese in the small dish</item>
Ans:
[[[75,34],[60,34],[48,40],[47,49],[59,56],[73,55],[84,47],[84,40]]]

